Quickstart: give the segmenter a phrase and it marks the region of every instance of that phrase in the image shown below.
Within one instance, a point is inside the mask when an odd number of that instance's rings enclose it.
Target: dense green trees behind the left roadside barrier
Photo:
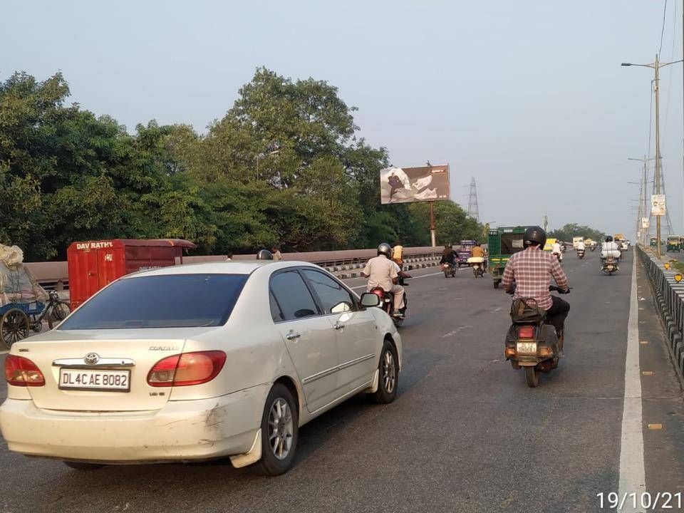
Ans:
[[[324,81],[259,68],[204,136],[155,120],[129,135],[68,96],[61,73],[0,84],[0,242],[28,261],[116,237],[203,253],[429,244],[427,204],[379,205],[387,151],[356,138],[356,109]],[[435,215],[438,242],[479,238],[456,204]]]

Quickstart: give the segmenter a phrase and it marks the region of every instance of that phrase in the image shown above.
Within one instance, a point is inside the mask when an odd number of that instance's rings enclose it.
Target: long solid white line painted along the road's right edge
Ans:
[[[620,445],[620,483],[618,497],[646,492],[643,465],[643,426],[641,420],[641,377],[639,372],[639,311],[636,299],[636,259],[632,265],[632,289],[627,322],[627,355],[625,360],[625,399],[622,410]],[[626,501],[622,512],[641,512]],[[640,505],[637,501],[637,505]]]

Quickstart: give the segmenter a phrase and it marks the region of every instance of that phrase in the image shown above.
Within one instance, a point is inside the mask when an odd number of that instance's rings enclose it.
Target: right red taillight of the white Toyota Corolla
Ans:
[[[147,374],[150,386],[187,386],[207,383],[216,378],[224,363],[223,351],[196,351],[167,356],[155,363]]]

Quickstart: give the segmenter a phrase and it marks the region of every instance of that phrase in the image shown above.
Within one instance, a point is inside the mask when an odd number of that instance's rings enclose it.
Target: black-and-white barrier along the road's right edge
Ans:
[[[655,255],[635,247],[641,261],[646,267],[648,281],[655,304],[668,336],[668,346],[675,361],[675,366],[684,375],[684,280],[676,281],[675,269],[665,269],[665,262]]]

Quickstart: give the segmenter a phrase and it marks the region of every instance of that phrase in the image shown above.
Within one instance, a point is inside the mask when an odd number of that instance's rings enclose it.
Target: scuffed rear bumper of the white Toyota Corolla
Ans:
[[[259,385],[145,412],[63,412],[7,399],[0,428],[9,450],[24,455],[104,463],[205,460],[252,447],[269,390]]]

